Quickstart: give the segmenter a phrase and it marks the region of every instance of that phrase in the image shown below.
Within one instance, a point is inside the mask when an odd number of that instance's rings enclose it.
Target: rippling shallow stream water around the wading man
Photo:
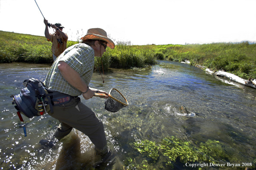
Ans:
[[[73,131],[79,138],[72,136],[74,141],[80,140],[73,144],[76,148],[69,147],[69,142],[65,141],[56,149],[38,145],[39,140],[59,124],[49,115],[31,119],[23,116],[28,134],[24,137],[9,96],[19,94],[25,79],[44,80],[49,68],[50,65],[45,64],[0,64],[0,167],[4,170],[65,169],[70,166],[89,169],[93,166],[93,145],[79,131]],[[233,159],[226,162],[232,164],[252,163],[256,158],[256,90],[253,88],[229,85],[196,67],[171,61],[160,61],[145,69],[112,69],[105,74],[105,83],[100,74],[94,73],[90,87],[104,91],[117,88],[129,102],[129,106],[112,113],[104,110],[104,99],[82,99],[103,121],[109,149],[116,158],[111,167],[103,169],[140,169],[142,164],[146,164],[147,169],[171,169],[165,165],[167,158],[163,155],[152,161],[132,145],[146,139],[160,143],[164,137],[171,136],[194,145],[207,140],[220,141],[229,148],[226,152]],[[195,116],[179,112],[181,105]],[[63,152],[65,147],[69,148],[67,152]],[[77,153],[78,148],[81,154]],[[76,155],[72,157],[74,151]],[[176,162],[174,168],[191,167]],[[245,169],[242,166],[204,168]]]

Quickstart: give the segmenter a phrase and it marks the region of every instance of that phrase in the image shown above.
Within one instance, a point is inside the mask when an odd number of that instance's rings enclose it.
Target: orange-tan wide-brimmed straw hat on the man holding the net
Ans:
[[[86,40],[86,39],[99,39],[107,42],[107,46],[110,49],[115,48],[115,43],[108,38],[106,31],[104,31],[101,28],[91,28],[87,30],[87,34],[81,38],[81,40]]]

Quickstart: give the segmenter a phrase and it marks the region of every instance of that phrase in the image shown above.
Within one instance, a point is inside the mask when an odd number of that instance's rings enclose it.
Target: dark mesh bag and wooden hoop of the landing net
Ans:
[[[115,99],[128,105],[128,102],[127,100],[125,100],[125,97],[123,97],[122,94],[120,94],[120,92],[117,91],[116,89],[111,89],[109,94]],[[109,97],[108,99],[105,100],[105,109],[109,112],[118,112],[120,109],[126,106],[122,103],[119,103],[118,101]]]

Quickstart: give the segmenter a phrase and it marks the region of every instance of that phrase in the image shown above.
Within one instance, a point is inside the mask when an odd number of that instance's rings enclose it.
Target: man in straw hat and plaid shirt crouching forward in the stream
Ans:
[[[107,37],[106,31],[100,28],[89,29],[82,38],[82,43],[69,47],[59,55],[45,80],[47,88],[69,95],[60,99],[59,103],[55,102],[53,114],[49,113],[60,121],[54,137],[60,140],[75,128],[90,138],[99,155],[108,152],[103,123],[90,108],[81,103],[78,96],[82,94],[88,100],[95,92],[108,95],[105,91],[89,88],[94,71],[94,57],[101,57],[107,46],[114,49],[115,44]]]

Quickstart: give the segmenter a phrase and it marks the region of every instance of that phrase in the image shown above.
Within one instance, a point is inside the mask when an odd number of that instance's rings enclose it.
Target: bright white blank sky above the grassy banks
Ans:
[[[0,0],[0,30],[44,36],[44,18],[69,40],[102,28],[131,45],[256,42],[256,0]],[[50,33],[53,29],[50,28]]]

